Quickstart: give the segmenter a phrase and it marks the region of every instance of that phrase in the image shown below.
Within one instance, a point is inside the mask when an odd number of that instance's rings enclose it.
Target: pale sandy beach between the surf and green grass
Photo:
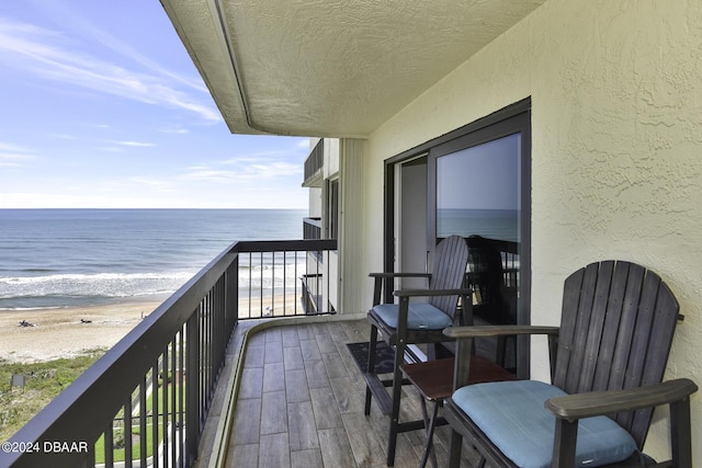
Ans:
[[[110,347],[160,303],[66,309],[0,310],[0,358],[10,362],[71,357]],[[32,326],[22,327],[21,321]]]

